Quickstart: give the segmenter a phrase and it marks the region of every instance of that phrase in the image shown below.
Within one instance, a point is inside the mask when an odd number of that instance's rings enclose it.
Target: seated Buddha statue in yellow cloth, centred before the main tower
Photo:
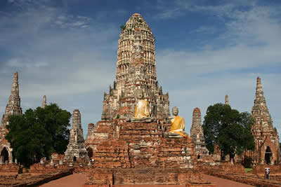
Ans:
[[[143,90],[136,90],[136,104],[133,107],[133,118],[130,121],[151,122],[155,118],[150,117],[148,101],[143,99]]]

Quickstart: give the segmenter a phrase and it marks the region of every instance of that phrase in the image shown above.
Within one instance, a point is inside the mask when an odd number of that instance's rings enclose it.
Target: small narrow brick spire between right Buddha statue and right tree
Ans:
[[[195,108],[193,110],[190,137],[195,143],[195,153],[197,153],[197,158],[209,155],[209,151],[205,144],[203,128],[201,123],[201,111],[199,108]]]

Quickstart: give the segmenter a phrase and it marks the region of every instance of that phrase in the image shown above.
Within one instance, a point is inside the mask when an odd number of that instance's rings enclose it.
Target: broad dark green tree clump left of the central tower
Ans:
[[[56,104],[27,109],[22,116],[9,118],[6,139],[13,148],[13,156],[30,166],[51,153],[64,153],[69,139],[71,114]]]

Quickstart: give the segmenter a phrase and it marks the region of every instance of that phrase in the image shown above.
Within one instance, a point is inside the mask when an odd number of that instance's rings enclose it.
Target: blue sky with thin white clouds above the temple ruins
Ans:
[[[156,37],[157,80],[190,132],[224,102],[251,112],[260,76],[281,133],[281,1],[0,1],[0,115],[19,72],[22,109],[47,102],[96,124],[115,80],[120,25],[141,13]],[[202,119],[203,121],[203,119]]]

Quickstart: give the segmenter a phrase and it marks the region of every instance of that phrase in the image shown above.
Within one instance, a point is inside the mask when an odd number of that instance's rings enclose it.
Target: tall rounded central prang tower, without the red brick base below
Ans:
[[[140,14],[135,13],[122,26],[117,50],[117,74],[113,88],[105,92],[102,120],[131,118],[135,91],[143,90],[151,117],[169,117],[169,94],[163,95],[156,76],[155,39]]]

